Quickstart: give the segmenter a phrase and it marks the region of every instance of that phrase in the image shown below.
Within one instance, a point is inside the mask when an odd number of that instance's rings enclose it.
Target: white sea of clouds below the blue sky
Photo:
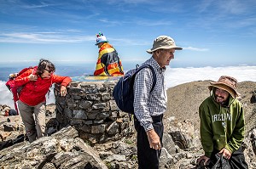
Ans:
[[[238,82],[256,82],[256,66],[230,66],[230,67],[201,67],[201,68],[170,68],[166,69],[166,87],[193,81],[212,80],[218,81],[219,76],[234,76]],[[53,91],[53,90],[52,90]],[[47,103],[54,103],[53,92],[47,96]],[[14,108],[12,93],[0,81],[0,104],[8,104]]]

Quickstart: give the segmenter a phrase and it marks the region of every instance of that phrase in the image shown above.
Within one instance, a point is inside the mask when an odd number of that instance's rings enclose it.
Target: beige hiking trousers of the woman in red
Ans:
[[[26,128],[26,136],[32,143],[45,135],[45,102],[35,106],[18,101],[20,116]]]

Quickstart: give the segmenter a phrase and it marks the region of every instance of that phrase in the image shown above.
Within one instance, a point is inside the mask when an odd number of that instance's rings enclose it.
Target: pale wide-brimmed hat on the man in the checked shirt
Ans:
[[[160,49],[160,48],[163,48],[163,49],[175,48],[176,50],[183,49],[183,48],[176,46],[172,37],[160,36],[160,37],[156,37],[156,39],[154,39],[153,47],[151,49],[148,49],[147,52],[149,54],[152,54],[152,52],[154,52],[155,50]]]

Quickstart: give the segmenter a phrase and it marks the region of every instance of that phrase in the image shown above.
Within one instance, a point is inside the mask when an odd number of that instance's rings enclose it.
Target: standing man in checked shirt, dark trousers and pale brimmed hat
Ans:
[[[153,86],[153,71],[143,68],[134,81],[134,125],[137,130],[137,159],[138,169],[158,169],[160,149],[162,147],[163,122],[162,117],[166,112],[166,85],[165,70],[174,59],[177,47],[172,37],[160,36],[154,39],[148,54],[152,57],[143,65],[151,65],[156,76]]]

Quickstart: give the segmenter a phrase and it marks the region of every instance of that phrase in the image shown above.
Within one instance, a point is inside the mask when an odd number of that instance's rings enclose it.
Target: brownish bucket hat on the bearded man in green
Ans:
[[[210,82],[210,83],[211,85],[208,87],[210,91],[212,90],[213,87],[218,87],[230,93],[230,95],[233,98],[237,98],[241,95],[236,91],[237,80],[234,77],[220,76],[218,79],[218,82]]]

